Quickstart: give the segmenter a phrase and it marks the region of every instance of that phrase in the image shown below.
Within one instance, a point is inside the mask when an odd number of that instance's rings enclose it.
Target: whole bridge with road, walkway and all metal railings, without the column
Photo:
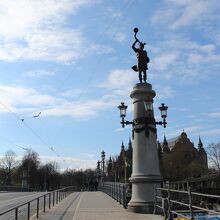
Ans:
[[[220,219],[220,196],[192,192],[190,188],[155,187],[154,214],[127,209],[127,184],[103,182],[99,190],[79,192],[66,187],[52,192],[1,192],[0,220]]]

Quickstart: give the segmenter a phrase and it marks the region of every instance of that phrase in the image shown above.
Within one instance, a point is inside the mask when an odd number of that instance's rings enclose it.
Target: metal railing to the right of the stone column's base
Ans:
[[[174,217],[194,220],[201,218],[202,213],[206,217],[220,219],[220,211],[208,203],[209,199],[220,199],[219,195],[192,192],[190,187],[187,191],[171,189],[169,186],[168,188],[155,186],[154,189],[154,214],[162,210],[165,220],[175,219]]]

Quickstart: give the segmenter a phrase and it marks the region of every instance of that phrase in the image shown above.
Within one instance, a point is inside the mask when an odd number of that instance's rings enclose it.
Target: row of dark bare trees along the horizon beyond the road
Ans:
[[[76,190],[82,190],[95,178],[96,172],[92,169],[66,169],[61,172],[56,161],[43,164],[38,153],[32,149],[28,149],[20,161],[12,150],[0,159],[0,186],[40,191],[75,186]]]

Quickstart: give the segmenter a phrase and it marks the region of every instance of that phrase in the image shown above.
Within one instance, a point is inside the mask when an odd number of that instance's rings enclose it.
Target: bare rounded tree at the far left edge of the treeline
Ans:
[[[17,165],[16,154],[12,150],[8,150],[0,161],[0,166],[5,170],[6,180],[5,183],[11,185],[11,172],[12,168]]]

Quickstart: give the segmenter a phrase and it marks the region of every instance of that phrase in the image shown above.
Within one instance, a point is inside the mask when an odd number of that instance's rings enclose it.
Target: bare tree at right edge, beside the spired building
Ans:
[[[208,159],[213,168],[220,171],[220,142],[211,143],[207,148]]]

